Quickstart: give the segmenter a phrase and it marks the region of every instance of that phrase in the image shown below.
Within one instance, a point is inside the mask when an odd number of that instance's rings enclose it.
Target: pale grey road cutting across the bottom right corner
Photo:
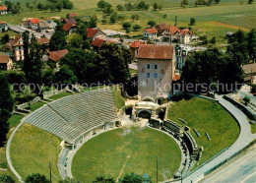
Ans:
[[[202,181],[203,183],[254,183],[256,182],[256,149],[226,165],[222,170]]]

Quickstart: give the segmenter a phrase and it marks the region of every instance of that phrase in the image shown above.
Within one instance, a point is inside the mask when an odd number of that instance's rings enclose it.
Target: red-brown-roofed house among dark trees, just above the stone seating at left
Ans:
[[[66,56],[66,54],[68,54],[68,53],[69,53],[69,51],[67,49],[49,52],[49,57],[48,57],[48,61],[47,61],[48,66],[50,66],[51,68],[58,69],[59,61],[62,58],[64,58]]]

